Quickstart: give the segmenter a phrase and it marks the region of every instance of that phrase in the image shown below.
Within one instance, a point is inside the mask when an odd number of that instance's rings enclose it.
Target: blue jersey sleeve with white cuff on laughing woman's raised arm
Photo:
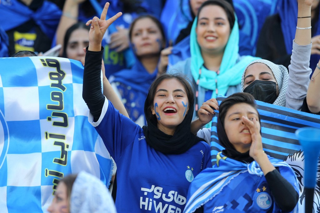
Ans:
[[[99,120],[93,122],[91,113],[88,119],[116,162],[124,150],[134,142],[137,133],[143,131],[138,124],[120,114],[108,99],[105,99]]]

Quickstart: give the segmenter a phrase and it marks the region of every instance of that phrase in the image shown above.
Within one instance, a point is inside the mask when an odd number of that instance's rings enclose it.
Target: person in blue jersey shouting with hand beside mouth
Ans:
[[[219,108],[225,149],[191,183],[184,212],[298,212],[298,180],[287,163],[264,153],[253,96],[235,93]]]

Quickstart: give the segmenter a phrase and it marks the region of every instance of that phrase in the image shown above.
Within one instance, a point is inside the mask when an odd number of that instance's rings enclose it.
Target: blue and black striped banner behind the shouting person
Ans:
[[[218,96],[220,104],[226,97]],[[320,128],[320,115],[304,113],[282,106],[257,101],[261,117],[262,144],[265,153],[271,157],[287,162],[295,171],[300,184],[299,209],[304,209],[304,154],[302,146],[295,135],[301,127]],[[217,115],[219,111],[216,111]],[[216,163],[216,155],[222,149],[217,135],[217,117],[212,119],[211,127],[211,161]],[[319,138],[320,140],[320,138]],[[320,141],[319,141],[320,143]],[[316,177],[317,185],[314,195],[314,212],[320,212],[320,161]]]

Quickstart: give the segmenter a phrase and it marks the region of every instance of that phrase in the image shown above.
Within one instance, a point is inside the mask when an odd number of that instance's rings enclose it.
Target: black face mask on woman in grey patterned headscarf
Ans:
[[[273,104],[277,99],[276,82],[255,80],[247,86],[244,92],[250,93],[254,99]]]

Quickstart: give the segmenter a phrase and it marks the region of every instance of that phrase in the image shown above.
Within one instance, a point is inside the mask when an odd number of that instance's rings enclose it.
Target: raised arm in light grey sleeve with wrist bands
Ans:
[[[286,107],[300,110],[306,97],[311,54],[311,4],[313,0],[298,1],[297,29],[292,46],[289,65],[288,88],[286,91]]]

